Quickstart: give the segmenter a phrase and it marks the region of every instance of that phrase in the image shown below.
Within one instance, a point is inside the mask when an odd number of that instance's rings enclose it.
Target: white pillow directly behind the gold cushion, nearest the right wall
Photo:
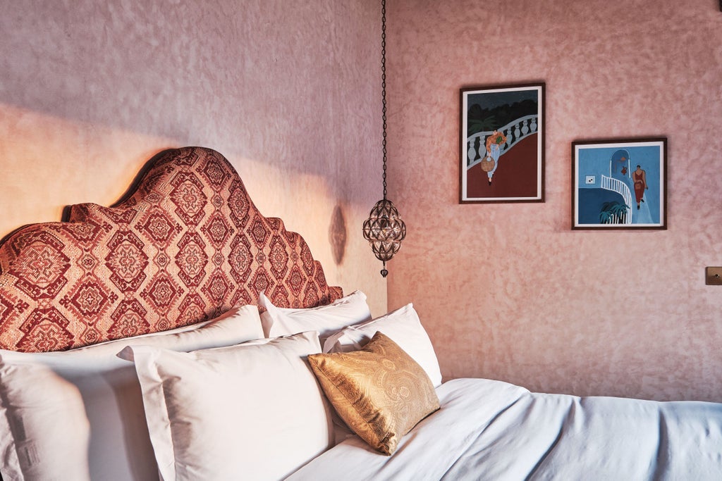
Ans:
[[[346,327],[341,332],[331,335],[323,344],[323,352],[348,353],[352,350],[359,350],[371,340],[377,331],[390,337],[394,343],[414,358],[414,361],[419,363],[429,375],[434,387],[440,386],[439,361],[413,304],[406,304],[396,311],[360,325]]]

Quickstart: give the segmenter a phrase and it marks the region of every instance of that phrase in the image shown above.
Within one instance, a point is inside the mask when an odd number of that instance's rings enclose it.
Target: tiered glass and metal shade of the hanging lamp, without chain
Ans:
[[[379,200],[373,206],[363,223],[363,237],[371,244],[378,260],[384,263],[399,252],[401,241],[406,237],[406,224],[391,200]]]

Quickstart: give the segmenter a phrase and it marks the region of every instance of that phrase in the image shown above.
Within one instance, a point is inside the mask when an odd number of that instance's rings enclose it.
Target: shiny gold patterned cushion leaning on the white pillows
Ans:
[[[383,454],[392,454],[406,433],[439,408],[424,369],[381,332],[362,350],[312,354],[308,361],[336,412]]]

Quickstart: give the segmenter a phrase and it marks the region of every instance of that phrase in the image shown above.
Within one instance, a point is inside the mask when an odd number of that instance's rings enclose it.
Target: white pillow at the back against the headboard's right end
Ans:
[[[266,308],[266,312],[261,313],[261,325],[264,327],[266,337],[318,331],[321,339],[325,340],[326,337],[346,326],[371,319],[371,311],[366,304],[366,294],[361,291],[354,291],[326,306],[306,309],[274,306],[263,293],[259,296],[258,304]]]

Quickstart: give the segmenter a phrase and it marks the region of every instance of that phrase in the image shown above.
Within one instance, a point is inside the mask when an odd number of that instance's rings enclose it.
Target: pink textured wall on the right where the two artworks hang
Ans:
[[[716,0],[391,0],[390,198],[446,378],[722,402]],[[546,203],[458,205],[458,90],[546,81]],[[669,229],[571,231],[570,144],[669,138]]]

